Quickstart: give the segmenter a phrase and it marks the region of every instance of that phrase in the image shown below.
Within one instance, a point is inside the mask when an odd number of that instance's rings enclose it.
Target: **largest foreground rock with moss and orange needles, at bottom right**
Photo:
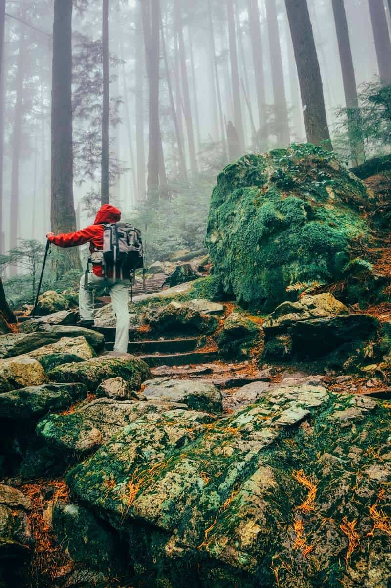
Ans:
[[[292,386],[200,419],[143,417],[67,476],[151,585],[387,588],[386,404]]]

